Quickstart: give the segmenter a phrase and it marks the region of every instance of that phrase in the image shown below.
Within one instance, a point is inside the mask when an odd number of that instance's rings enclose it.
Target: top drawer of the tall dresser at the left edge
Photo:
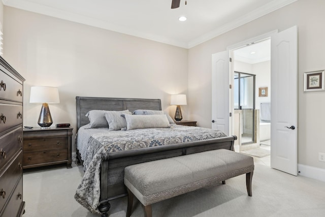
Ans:
[[[0,71],[0,99],[22,102],[22,84]]]

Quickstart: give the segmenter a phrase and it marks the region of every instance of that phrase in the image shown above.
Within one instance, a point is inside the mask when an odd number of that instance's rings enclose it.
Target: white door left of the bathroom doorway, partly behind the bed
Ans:
[[[229,51],[212,54],[212,129],[230,133]]]

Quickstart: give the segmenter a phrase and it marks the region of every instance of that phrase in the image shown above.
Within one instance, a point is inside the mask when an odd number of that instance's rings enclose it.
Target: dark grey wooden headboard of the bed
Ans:
[[[89,123],[86,113],[90,110],[122,111],[128,109],[161,110],[160,99],[131,99],[131,98],[102,98],[76,97],[77,101],[77,130]]]

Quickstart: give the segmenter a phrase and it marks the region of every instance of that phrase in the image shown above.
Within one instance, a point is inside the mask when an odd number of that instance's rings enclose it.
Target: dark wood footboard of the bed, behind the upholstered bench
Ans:
[[[127,196],[124,168],[129,165],[182,156],[215,149],[234,150],[236,136],[185,142],[109,153],[101,166],[101,200],[99,210],[107,216],[110,200]]]

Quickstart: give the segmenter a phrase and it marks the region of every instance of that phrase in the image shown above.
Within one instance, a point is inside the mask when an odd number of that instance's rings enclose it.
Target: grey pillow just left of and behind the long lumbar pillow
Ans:
[[[111,111],[105,113],[106,120],[108,122],[108,130],[109,131],[115,131],[115,130],[121,130],[122,128],[126,128],[126,121],[125,118],[122,117],[122,114],[130,114],[131,112],[128,110],[126,111]]]

